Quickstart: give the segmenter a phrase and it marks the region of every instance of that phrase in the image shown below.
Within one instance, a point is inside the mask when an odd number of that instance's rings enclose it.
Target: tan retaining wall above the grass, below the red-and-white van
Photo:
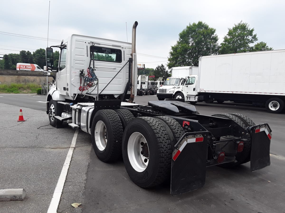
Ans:
[[[46,83],[46,76],[43,76],[40,71],[27,71],[27,70],[1,70],[0,69],[0,83],[36,83],[41,85]],[[53,78],[48,77],[48,81],[52,82]]]

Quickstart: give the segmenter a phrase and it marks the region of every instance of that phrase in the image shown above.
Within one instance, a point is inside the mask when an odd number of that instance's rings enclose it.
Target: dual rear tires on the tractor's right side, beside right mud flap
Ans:
[[[254,126],[255,123],[249,117],[238,114],[238,113],[230,113],[230,114],[215,114],[212,116],[216,116],[219,118],[229,118],[239,124],[242,128],[246,129],[248,126]],[[235,164],[228,163],[228,164],[221,164],[221,167],[231,167],[236,166],[239,164],[244,164],[250,161],[250,152],[251,152],[251,138],[247,141],[244,141],[243,151],[239,152],[235,155],[235,159],[237,162]]]

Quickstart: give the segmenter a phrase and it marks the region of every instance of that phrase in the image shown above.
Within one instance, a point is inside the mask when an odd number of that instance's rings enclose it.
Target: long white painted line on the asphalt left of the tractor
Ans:
[[[55,187],[55,190],[54,190],[54,194],[52,196],[52,200],[50,201],[50,206],[48,207],[48,212],[47,213],[56,213],[57,212],[57,208],[58,208],[58,204],[60,202],[62,189],[63,189],[64,182],[65,182],[65,179],[66,179],[68,168],[69,168],[69,165],[70,165],[72,153],[73,153],[73,150],[74,150],[74,147],[75,147],[77,134],[78,134],[78,130],[76,130],[74,135],[73,135],[72,142],[71,142],[70,148],[68,150],[65,162],[63,164],[60,176],[58,178],[58,182],[56,184],[56,187]]]

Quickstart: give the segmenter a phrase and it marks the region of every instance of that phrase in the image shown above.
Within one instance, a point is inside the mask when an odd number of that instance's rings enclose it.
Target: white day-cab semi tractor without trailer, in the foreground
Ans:
[[[71,35],[46,48],[47,69],[56,72],[47,95],[50,125],[89,133],[99,160],[123,158],[139,187],[171,179],[172,195],[202,187],[207,166],[250,161],[255,171],[270,165],[268,124],[236,113],[201,115],[181,101],[134,103],[137,25],[132,43]],[[52,47],[60,49],[56,68]]]

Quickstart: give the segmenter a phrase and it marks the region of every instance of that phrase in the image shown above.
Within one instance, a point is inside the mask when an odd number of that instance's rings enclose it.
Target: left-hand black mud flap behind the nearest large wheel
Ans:
[[[185,133],[172,153],[172,195],[179,195],[203,187],[206,179],[206,161],[209,131]]]

